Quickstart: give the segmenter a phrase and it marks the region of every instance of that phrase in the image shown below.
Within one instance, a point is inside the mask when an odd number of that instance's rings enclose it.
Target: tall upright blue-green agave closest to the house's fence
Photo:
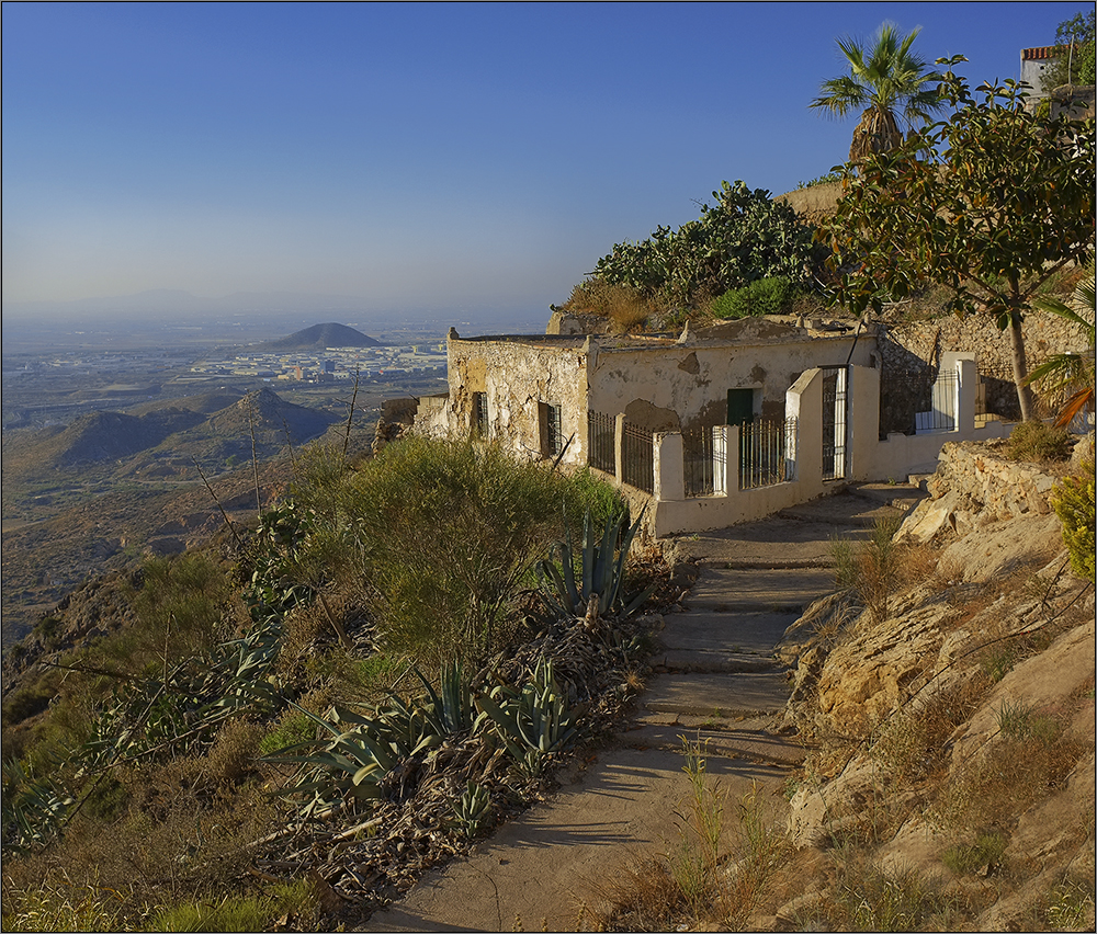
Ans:
[[[556,545],[559,551],[559,567],[547,559],[539,565],[544,583],[542,596],[548,608],[561,618],[575,618],[587,613],[591,597],[597,597],[599,616],[611,613],[614,606],[622,616],[634,613],[654,590],[654,588],[645,590],[627,604],[619,600],[629,548],[640,531],[643,517],[644,513],[641,511],[636,521],[624,532],[623,538],[621,532],[625,516],[622,514],[615,520],[607,519],[601,540],[598,540],[591,527],[590,510],[587,510],[583,521],[583,551],[579,556],[581,577],[576,580],[577,562],[570,533],[564,542]],[[619,539],[620,548],[617,547]]]

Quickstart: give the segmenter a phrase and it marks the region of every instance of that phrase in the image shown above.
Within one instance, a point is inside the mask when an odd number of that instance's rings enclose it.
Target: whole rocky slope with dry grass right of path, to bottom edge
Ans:
[[[946,445],[895,542],[851,553],[855,586],[790,628],[804,878],[760,926],[1093,930],[1094,586],[1055,477],[1003,453]]]

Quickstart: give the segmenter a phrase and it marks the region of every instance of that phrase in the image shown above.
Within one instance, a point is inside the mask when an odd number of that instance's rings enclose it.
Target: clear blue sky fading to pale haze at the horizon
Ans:
[[[722,180],[846,159],[836,37],[1018,78],[1079,2],[2,5],[3,305],[542,309]]]

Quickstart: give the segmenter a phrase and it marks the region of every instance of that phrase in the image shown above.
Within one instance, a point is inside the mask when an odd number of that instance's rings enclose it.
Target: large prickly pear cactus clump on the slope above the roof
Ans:
[[[676,231],[659,227],[640,243],[617,243],[595,275],[681,305],[767,276],[810,281],[812,231],[789,205],[742,181],[723,182],[712,196],[715,205],[701,205],[701,216]]]

